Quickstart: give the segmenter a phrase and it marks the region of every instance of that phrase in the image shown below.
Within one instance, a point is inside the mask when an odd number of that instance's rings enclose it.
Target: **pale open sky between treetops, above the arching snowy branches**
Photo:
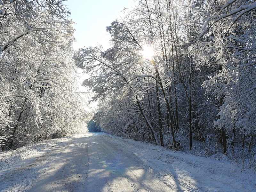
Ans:
[[[97,44],[108,48],[106,27],[118,18],[124,7],[131,6],[131,0],[67,0],[64,3],[71,12],[70,19],[76,23],[75,50]]]

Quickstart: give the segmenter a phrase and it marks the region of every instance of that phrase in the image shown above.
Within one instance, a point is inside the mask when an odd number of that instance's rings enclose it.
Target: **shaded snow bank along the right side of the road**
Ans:
[[[108,134],[101,137],[108,137],[120,148],[125,148],[126,152],[130,151],[166,174],[176,175],[180,183],[191,180],[190,184],[197,186],[200,191],[212,191],[212,188],[216,188],[216,191],[256,191],[256,173],[232,165],[223,158],[193,156]]]

